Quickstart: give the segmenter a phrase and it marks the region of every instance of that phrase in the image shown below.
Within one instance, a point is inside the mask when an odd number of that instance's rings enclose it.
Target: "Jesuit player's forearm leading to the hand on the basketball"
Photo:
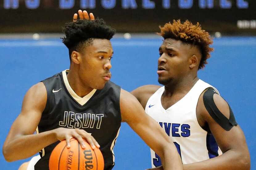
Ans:
[[[8,162],[28,158],[42,148],[58,141],[54,130],[33,135],[17,136],[3,147],[3,155]]]

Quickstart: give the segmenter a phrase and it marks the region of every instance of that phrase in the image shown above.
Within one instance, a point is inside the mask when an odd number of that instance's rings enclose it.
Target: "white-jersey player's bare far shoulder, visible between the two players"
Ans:
[[[142,107],[145,109],[148,99],[160,88],[159,85],[143,85],[134,89],[131,93],[134,95]]]

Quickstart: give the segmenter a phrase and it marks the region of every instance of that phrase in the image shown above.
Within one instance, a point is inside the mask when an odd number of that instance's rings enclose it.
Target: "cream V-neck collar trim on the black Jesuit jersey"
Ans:
[[[88,93],[86,96],[84,97],[79,97],[74,90],[70,87],[69,83],[68,83],[68,77],[67,77],[67,72],[69,70],[66,69],[62,72],[62,76],[63,76],[63,80],[65,83],[65,86],[68,90],[68,93],[73,97],[73,99],[75,99],[75,101],[77,101],[77,103],[79,103],[80,105],[85,105],[85,103],[87,103],[87,101],[89,101],[89,99],[93,96],[93,94],[96,92],[96,89],[93,89],[90,93]]]

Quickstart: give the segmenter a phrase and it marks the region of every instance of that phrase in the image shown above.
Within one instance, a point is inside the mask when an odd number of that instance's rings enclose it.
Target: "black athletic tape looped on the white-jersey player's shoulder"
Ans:
[[[213,95],[218,94],[213,88],[209,88],[204,92],[204,106],[214,121],[217,122],[223,129],[229,131],[233,126],[237,125],[232,109],[229,106],[229,119],[226,118],[214,103]],[[228,104],[229,105],[229,104]]]

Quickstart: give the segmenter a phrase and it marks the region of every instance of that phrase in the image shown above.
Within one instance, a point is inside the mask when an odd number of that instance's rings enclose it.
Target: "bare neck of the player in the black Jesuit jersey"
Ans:
[[[93,88],[86,86],[80,79],[78,71],[70,69],[67,75],[68,83],[73,91],[79,96],[84,97],[89,94]]]

